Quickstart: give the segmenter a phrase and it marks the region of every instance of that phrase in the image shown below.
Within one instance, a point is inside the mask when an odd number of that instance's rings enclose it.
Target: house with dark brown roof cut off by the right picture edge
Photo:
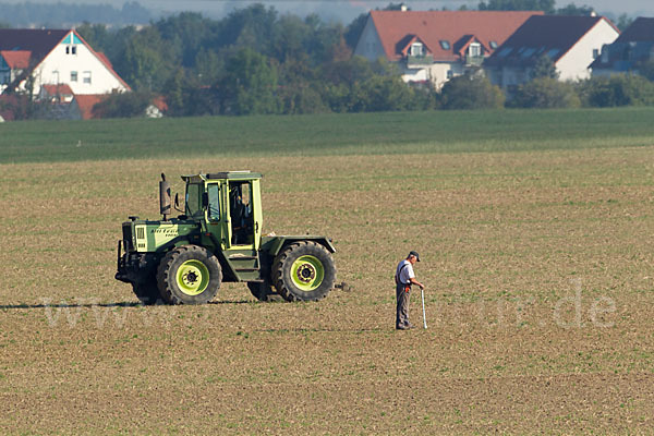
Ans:
[[[633,72],[654,59],[654,19],[638,17],[602,55],[591,63],[594,76]]]

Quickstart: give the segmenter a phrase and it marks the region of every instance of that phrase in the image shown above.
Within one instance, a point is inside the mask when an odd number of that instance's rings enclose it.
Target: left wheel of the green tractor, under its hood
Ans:
[[[197,245],[174,249],[161,259],[157,283],[170,304],[205,304],[216,296],[222,281],[218,258]]]

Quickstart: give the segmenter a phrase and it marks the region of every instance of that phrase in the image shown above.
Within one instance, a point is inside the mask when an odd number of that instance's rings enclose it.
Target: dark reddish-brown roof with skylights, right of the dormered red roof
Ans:
[[[485,61],[485,65],[493,66],[505,63],[531,65],[545,53],[554,62],[557,62],[603,20],[616,32],[619,32],[609,20],[603,16],[532,16]]]

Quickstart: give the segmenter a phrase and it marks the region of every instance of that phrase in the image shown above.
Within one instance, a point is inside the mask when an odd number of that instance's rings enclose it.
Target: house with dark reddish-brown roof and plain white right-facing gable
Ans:
[[[559,80],[589,78],[591,62],[619,35],[604,16],[534,15],[484,62],[484,70],[493,84],[510,88],[529,82],[538,59],[547,56]]]

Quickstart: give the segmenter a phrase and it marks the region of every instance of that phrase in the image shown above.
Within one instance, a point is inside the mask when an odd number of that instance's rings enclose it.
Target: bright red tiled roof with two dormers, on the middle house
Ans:
[[[420,38],[435,61],[457,60],[459,53],[455,47],[461,47],[463,38],[474,37],[493,52],[491,41],[501,45],[530,16],[542,14],[540,11],[371,11],[386,57],[391,61],[402,58],[402,50],[411,40],[408,36]],[[441,40],[448,41],[449,48],[444,48]]]

